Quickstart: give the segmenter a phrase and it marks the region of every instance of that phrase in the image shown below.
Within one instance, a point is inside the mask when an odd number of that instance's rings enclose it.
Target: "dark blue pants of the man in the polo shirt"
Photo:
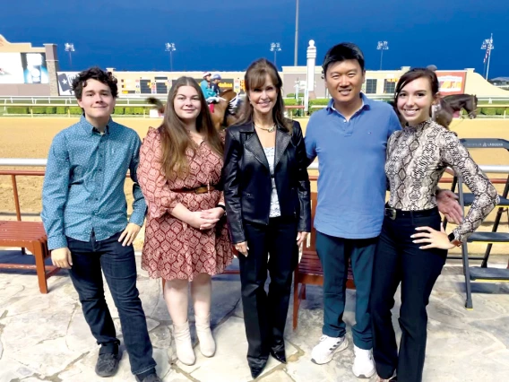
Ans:
[[[353,342],[358,348],[365,350],[372,348],[373,340],[369,315],[369,291],[377,239],[342,239],[316,232],[316,252],[324,270],[324,328],[322,332],[336,338],[346,333],[343,313],[349,259],[351,259],[356,285],[356,324],[352,327]]]

